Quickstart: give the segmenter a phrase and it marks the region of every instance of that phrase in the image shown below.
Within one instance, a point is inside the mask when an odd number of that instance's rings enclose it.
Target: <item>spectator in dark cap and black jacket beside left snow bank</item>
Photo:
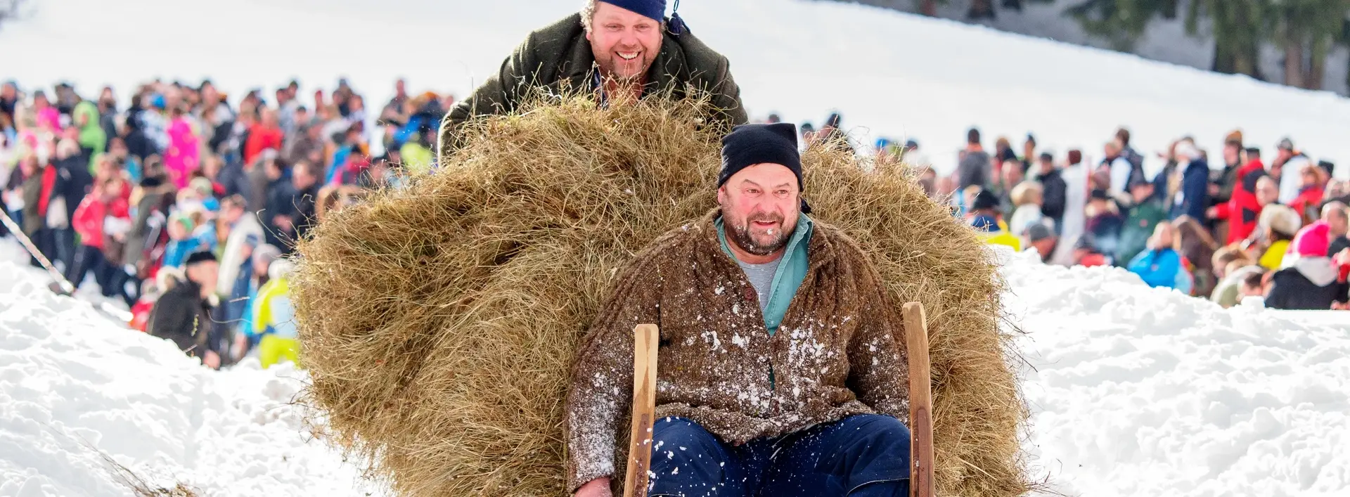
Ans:
[[[184,266],[184,278],[151,308],[146,331],[173,340],[178,350],[201,358],[209,367],[220,367],[220,354],[208,346],[220,263],[211,253],[198,251],[189,255]]]

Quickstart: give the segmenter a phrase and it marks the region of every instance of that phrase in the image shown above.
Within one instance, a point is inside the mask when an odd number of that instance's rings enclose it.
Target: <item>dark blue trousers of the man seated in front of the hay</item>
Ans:
[[[910,429],[890,416],[852,416],[738,447],[683,417],[652,428],[649,497],[910,494]]]

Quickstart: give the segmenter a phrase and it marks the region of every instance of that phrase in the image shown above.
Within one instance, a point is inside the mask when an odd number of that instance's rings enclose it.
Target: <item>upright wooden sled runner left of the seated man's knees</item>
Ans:
[[[655,324],[633,328],[633,428],[628,443],[628,475],[624,497],[647,496],[647,471],[652,466],[652,423],[656,421],[656,346],[660,332]]]

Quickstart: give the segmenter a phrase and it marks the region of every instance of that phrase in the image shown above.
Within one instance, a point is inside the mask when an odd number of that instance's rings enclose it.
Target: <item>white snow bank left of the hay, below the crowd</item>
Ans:
[[[304,373],[208,370],[0,261],[0,496],[130,496],[104,452],[207,496],[364,496],[289,405]]]

